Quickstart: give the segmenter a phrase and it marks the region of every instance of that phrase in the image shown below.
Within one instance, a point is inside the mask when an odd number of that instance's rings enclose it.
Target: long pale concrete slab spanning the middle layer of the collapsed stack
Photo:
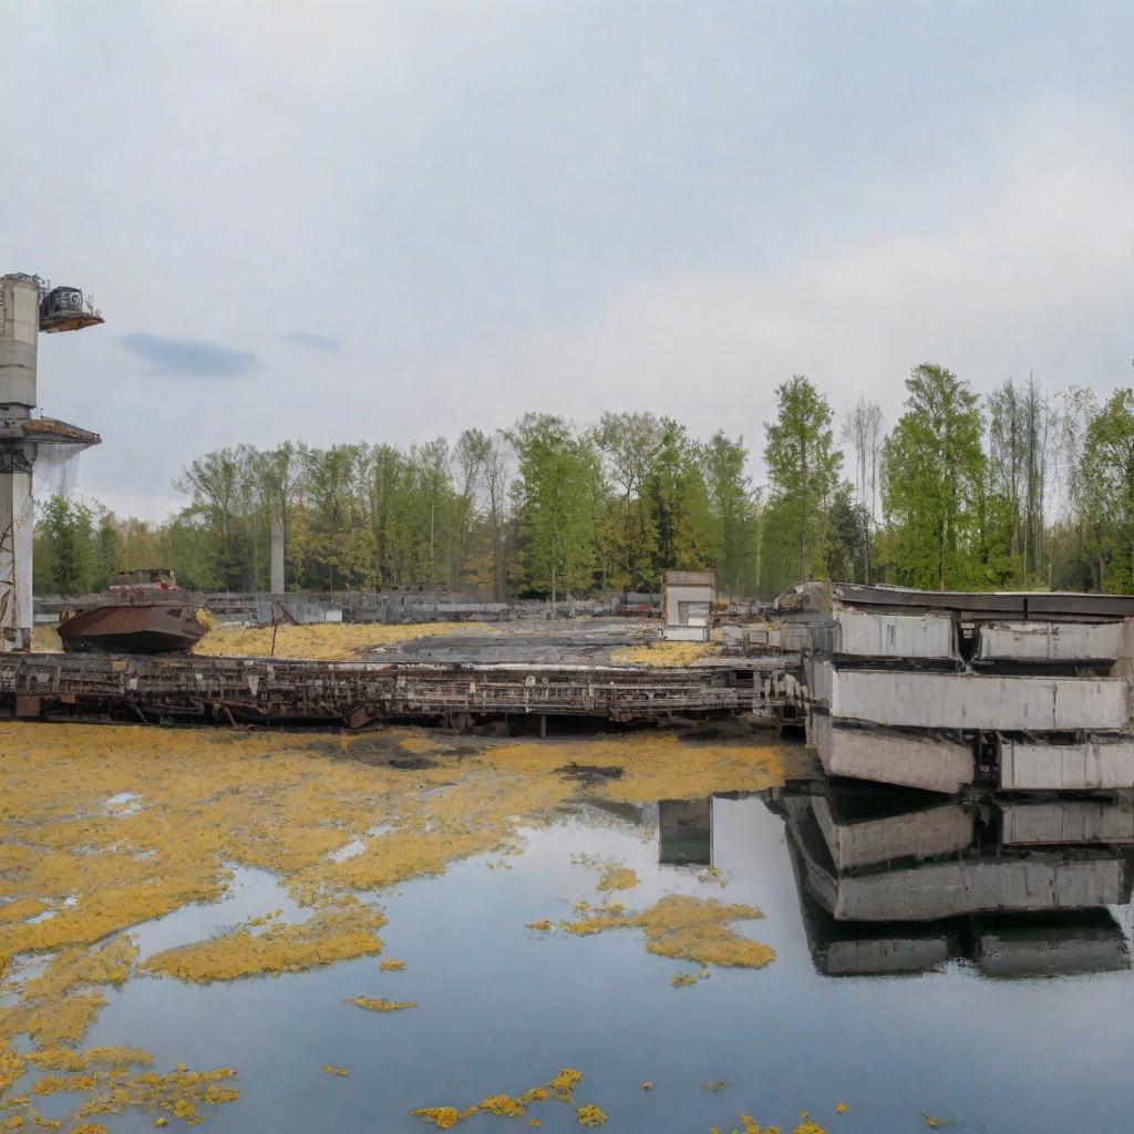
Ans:
[[[896,672],[816,662],[816,695],[828,683],[832,717],[878,725],[1052,731],[1118,729],[1129,719],[1129,688],[1116,678]]]

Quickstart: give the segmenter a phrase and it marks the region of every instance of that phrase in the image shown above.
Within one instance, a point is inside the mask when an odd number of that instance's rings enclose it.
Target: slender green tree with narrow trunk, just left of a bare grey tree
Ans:
[[[770,503],[795,531],[799,578],[824,570],[826,506],[839,483],[831,407],[802,374],[776,387],[777,416],[764,425]]]

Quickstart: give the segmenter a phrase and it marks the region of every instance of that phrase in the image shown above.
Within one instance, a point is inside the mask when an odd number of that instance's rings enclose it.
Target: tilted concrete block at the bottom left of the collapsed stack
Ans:
[[[828,776],[945,794],[973,781],[972,748],[957,741],[878,728],[839,728],[830,717],[816,712],[811,714],[809,730]]]

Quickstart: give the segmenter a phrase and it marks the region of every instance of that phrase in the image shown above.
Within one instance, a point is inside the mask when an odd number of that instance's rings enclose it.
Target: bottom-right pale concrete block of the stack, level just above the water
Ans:
[[[999,747],[1000,787],[1005,789],[1134,787],[1134,737],[1082,744],[1040,744],[1001,737]]]

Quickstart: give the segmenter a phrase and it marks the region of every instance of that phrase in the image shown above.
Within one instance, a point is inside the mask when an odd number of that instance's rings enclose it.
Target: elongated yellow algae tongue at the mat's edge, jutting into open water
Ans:
[[[375,931],[386,924],[376,909],[345,897],[297,924],[273,923],[263,933],[245,925],[209,941],[183,945],[146,960],[144,972],[205,983],[240,976],[295,973],[381,953]]]

